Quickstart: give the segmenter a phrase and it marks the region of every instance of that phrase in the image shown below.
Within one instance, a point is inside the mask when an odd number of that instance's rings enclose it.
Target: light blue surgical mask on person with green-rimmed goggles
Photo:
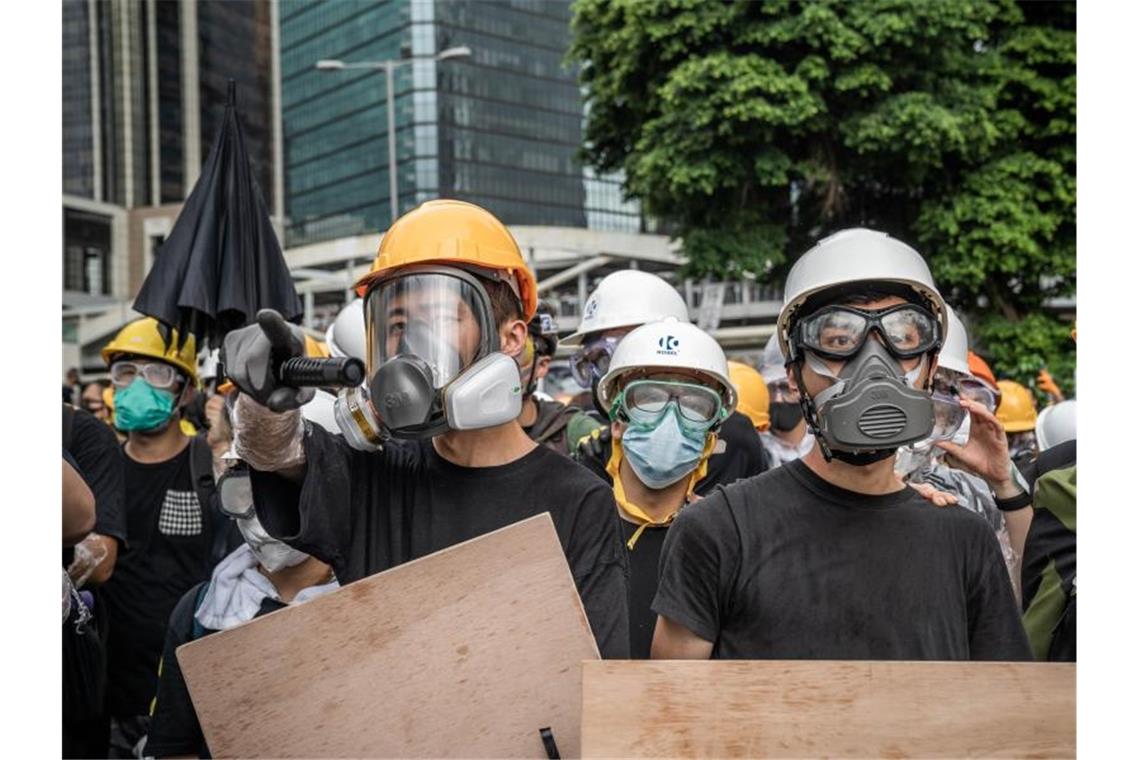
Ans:
[[[684,425],[677,402],[670,401],[656,425],[630,425],[621,434],[621,450],[637,480],[660,490],[697,469],[708,431]]]

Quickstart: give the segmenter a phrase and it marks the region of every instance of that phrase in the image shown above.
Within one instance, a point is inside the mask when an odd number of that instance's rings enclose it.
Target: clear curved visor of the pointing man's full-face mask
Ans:
[[[498,349],[490,299],[462,270],[409,269],[365,299],[369,374],[397,356],[410,354],[431,368],[438,390]]]

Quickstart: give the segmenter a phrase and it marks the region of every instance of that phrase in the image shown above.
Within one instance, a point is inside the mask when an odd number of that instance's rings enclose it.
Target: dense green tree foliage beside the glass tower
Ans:
[[[586,157],[694,276],[780,277],[856,224],[909,240],[1020,367],[1037,349],[985,326],[1075,288],[1075,22],[1013,0],[577,0]]]

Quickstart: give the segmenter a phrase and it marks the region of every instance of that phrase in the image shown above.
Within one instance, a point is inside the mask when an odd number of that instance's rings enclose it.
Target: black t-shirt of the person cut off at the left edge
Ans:
[[[127,516],[123,508],[123,452],[115,432],[95,415],[82,409],[65,409],[72,415],[71,440],[64,441],[75,459],[76,469],[95,495],[93,532],[127,545]],[[65,557],[65,566],[70,564]]]

